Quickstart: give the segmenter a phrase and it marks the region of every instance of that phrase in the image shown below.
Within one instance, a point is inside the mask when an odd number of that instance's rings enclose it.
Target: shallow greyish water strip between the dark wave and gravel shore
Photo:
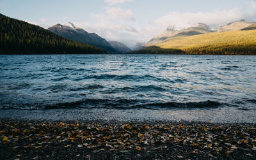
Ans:
[[[101,120],[111,122],[145,122],[145,121],[192,121],[211,123],[255,123],[256,110],[237,110],[236,107],[223,108],[70,108],[51,110],[0,110],[0,119],[43,120],[43,121],[83,121]]]

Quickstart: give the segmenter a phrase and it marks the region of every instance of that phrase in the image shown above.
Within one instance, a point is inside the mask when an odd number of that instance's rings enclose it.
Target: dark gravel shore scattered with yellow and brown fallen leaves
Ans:
[[[0,159],[255,159],[256,124],[0,120]]]

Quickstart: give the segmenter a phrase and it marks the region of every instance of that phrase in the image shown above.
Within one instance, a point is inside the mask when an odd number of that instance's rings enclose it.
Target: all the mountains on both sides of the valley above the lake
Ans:
[[[239,20],[211,28],[206,24],[177,30],[169,26],[133,51],[106,41],[72,22],[49,29],[0,14],[0,54],[256,54],[256,23]]]

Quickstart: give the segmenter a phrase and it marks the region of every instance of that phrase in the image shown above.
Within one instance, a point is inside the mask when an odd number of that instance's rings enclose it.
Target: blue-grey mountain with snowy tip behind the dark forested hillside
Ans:
[[[106,50],[108,53],[117,53],[115,48],[111,47],[108,41],[106,41],[104,38],[101,38],[95,33],[88,33],[84,31],[84,29],[76,27],[72,22],[68,22],[64,25],[56,24],[52,27],[49,27],[48,30],[52,33],[63,36],[68,40],[74,40],[88,45],[93,45],[95,47]]]

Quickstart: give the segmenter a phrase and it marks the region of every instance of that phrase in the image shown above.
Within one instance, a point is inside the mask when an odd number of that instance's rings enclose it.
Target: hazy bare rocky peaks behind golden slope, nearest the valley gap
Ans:
[[[175,30],[174,27],[167,27],[167,29],[164,31],[164,33],[159,34],[158,36],[155,36],[150,41],[146,43],[145,46],[152,46],[156,45],[157,43],[161,43],[164,40],[172,37],[178,37],[178,36],[193,36],[197,34],[205,34],[205,33],[211,33],[212,29],[206,25],[206,24],[198,24],[196,27],[188,27],[187,29],[183,30]]]

